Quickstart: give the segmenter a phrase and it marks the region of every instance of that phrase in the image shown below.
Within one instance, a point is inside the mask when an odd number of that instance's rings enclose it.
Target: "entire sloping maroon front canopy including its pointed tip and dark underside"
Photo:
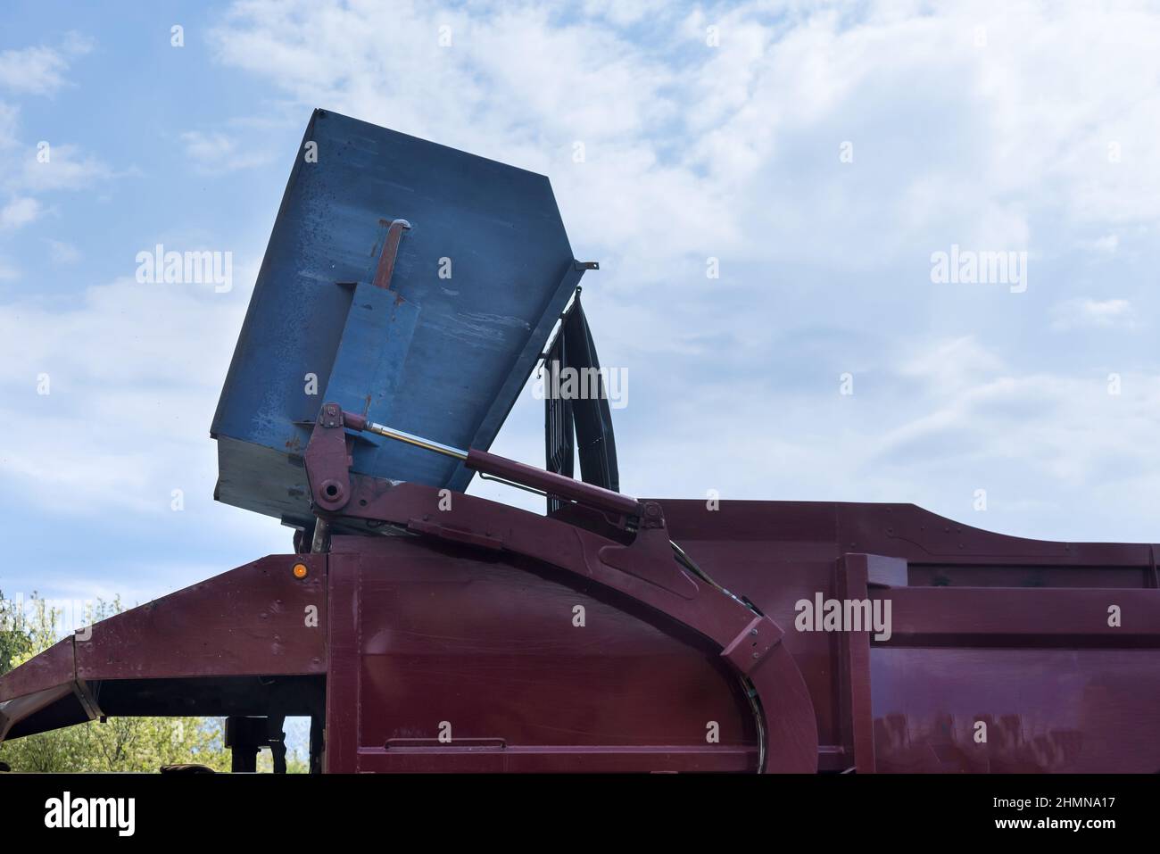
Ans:
[[[86,627],[0,679],[0,739],[104,714],[229,714],[255,692],[223,680],[321,676],[326,593],[325,557],[269,556]]]

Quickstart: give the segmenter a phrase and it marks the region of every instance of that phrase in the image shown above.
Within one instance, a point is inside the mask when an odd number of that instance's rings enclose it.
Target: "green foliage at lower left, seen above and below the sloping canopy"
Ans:
[[[86,608],[95,623],[123,610],[119,598]],[[0,593],[0,674],[17,667],[61,635],[61,611],[32,594],[9,602]],[[230,770],[222,718],[123,717],[42,732],[0,744],[0,762],[14,772],[155,772],[162,765],[196,762]],[[269,769],[269,754],[262,759]],[[289,770],[305,770],[288,757]]]

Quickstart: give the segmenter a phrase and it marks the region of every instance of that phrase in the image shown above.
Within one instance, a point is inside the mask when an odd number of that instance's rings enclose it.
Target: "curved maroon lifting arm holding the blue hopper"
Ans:
[[[331,407],[338,410],[338,420]],[[358,420],[350,425],[353,429],[361,428]],[[346,442],[341,408],[324,405],[305,455],[319,515],[390,523],[490,551],[514,552],[637,600],[720,649],[754,704],[761,733],[759,770],[818,769],[813,703],[797,664],[781,643],[784,632],[770,617],[677,563],[659,504],[641,505],[641,527],[633,542],[624,545],[474,495],[454,493],[448,500],[447,491],[433,486],[351,473]]]

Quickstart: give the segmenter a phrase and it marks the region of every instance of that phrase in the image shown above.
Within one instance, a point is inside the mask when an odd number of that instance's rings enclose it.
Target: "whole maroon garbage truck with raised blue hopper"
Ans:
[[[625,494],[597,269],[545,176],[317,110],[210,428],[216,499],[287,552],[5,674],[0,740],[212,716],[284,772],[307,717],[312,773],[1160,770],[1155,544]],[[542,468],[488,450],[534,375]]]

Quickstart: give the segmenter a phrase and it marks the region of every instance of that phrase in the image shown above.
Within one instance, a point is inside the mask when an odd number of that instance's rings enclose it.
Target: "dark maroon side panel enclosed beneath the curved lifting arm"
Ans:
[[[719,654],[635,603],[466,547],[333,549],[329,769],[353,769],[353,739],[358,770],[756,768],[753,715]]]

